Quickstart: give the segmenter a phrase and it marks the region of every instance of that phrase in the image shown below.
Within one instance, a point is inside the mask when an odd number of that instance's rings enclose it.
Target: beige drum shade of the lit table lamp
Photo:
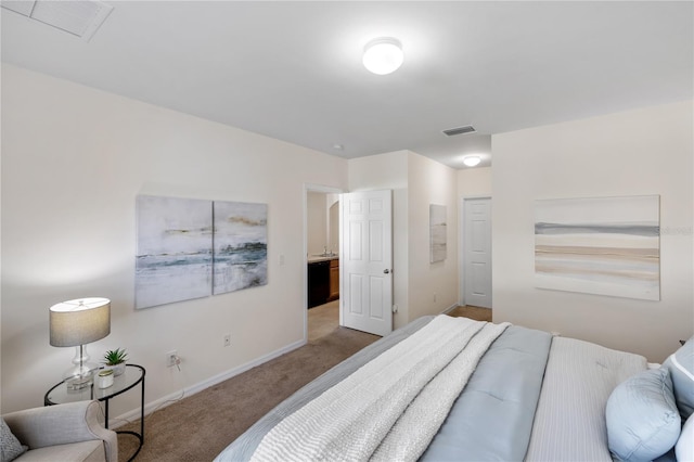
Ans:
[[[97,342],[111,333],[111,300],[80,298],[50,308],[51,345],[79,346]]]

